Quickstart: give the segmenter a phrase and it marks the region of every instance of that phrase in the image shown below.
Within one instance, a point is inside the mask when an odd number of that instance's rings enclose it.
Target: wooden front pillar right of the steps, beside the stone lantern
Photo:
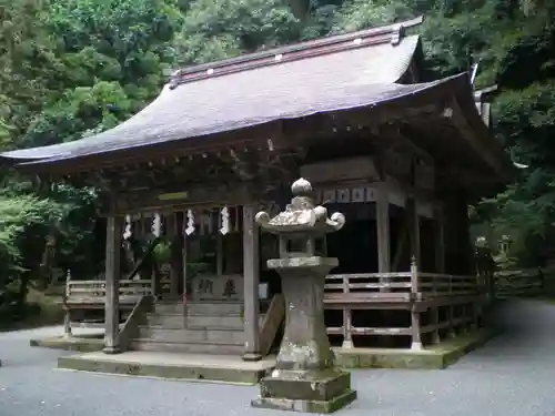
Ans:
[[[243,206],[244,361],[259,361],[259,229],[255,206]]]

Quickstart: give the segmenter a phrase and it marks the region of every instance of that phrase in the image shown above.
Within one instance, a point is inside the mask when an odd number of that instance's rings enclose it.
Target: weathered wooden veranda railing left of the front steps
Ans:
[[[152,294],[150,280],[120,281],[120,313],[122,315],[129,314],[142,296],[150,294]],[[68,278],[65,282],[65,293],[62,300],[62,306],[65,311],[63,323],[64,335],[71,336],[72,327],[103,328],[103,318],[100,322],[87,322],[83,316],[90,311],[103,312],[104,303],[105,281],[71,281]]]

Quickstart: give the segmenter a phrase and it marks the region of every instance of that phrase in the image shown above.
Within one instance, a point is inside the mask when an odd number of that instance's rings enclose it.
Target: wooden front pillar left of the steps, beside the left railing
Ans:
[[[119,354],[121,217],[109,216],[105,236],[105,354]]]

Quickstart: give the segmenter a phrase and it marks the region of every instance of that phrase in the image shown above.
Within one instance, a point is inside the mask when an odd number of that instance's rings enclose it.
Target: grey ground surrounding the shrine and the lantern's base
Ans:
[[[504,335],[446,371],[356,371],[344,416],[553,416],[555,305],[507,302]],[[70,353],[29,347],[42,328],[0,334],[0,416],[274,416],[253,409],[256,387],[53,369]]]

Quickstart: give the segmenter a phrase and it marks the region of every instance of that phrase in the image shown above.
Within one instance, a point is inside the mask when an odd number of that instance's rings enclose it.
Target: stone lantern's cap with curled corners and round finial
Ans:
[[[256,214],[256,223],[269,233],[311,233],[324,234],[339,231],[345,224],[345,216],[334,213],[327,217],[325,206],[315,206],[312,199],[312,185],[304,177],[296,180],[291,185],[293,199],[285,211],[280,212],[273,219],[265,211]]]

